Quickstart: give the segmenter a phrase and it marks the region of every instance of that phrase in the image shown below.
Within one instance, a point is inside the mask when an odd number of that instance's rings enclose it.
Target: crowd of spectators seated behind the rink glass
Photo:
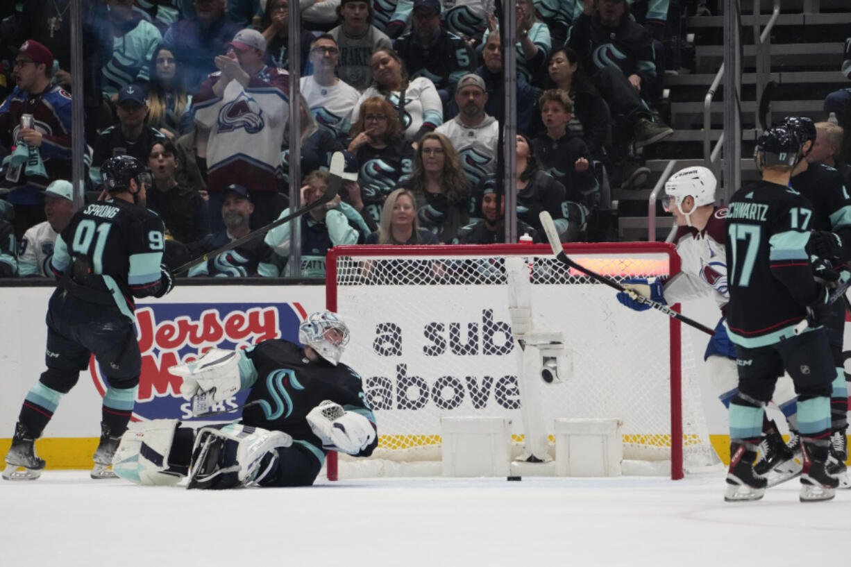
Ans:
[[[686,0],[688,1],[688,0]],[[694,0],[690,0],[694,2]],[[83,0],[82,77],[71,77],[71,0],[2,9],[0,229],[17,255],[59,232],[71,178],[71,97],[83,96],[85,194],[127,154],[154,180],[148,206],[174,263],[287,215],[301,219],[301,273],[321,276],[340,243],[493,243],[505,78],[492,0],[300,0],[300,179],[289,175],[290,0]],[[10,3],[14,4],[14,3]],[[654,112],[664,77],[668,0],[517,0],[518,226],[535,241],[548,210],[564,241],[603,238],[611,186],[638,180],[641,148],[672,130]],[[30,115],[31,123],[22,121]],[[48,192],[49,186],[54,188]],[[46,224],[45,224],[46,223]],[[191,275],[278,276],[289,226]],[[46,235],[46,236],[43,236]],[[519,235],[518,235],[519,236]],[[44,275],[37,258],[20,275]],[[5,274],[5,271],[3,272]]]

